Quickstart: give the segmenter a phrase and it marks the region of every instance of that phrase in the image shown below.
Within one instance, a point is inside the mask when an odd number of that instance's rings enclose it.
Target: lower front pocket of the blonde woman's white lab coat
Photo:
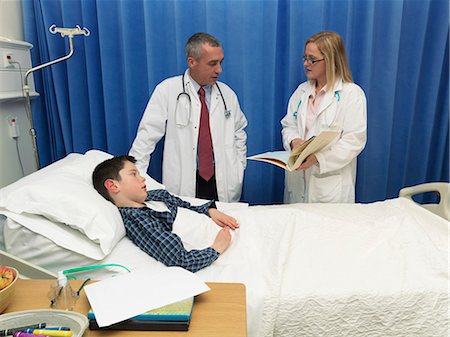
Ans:
[[[342,195],[341,175],[338,172],[311,174],[309,202],[339,202]]]

